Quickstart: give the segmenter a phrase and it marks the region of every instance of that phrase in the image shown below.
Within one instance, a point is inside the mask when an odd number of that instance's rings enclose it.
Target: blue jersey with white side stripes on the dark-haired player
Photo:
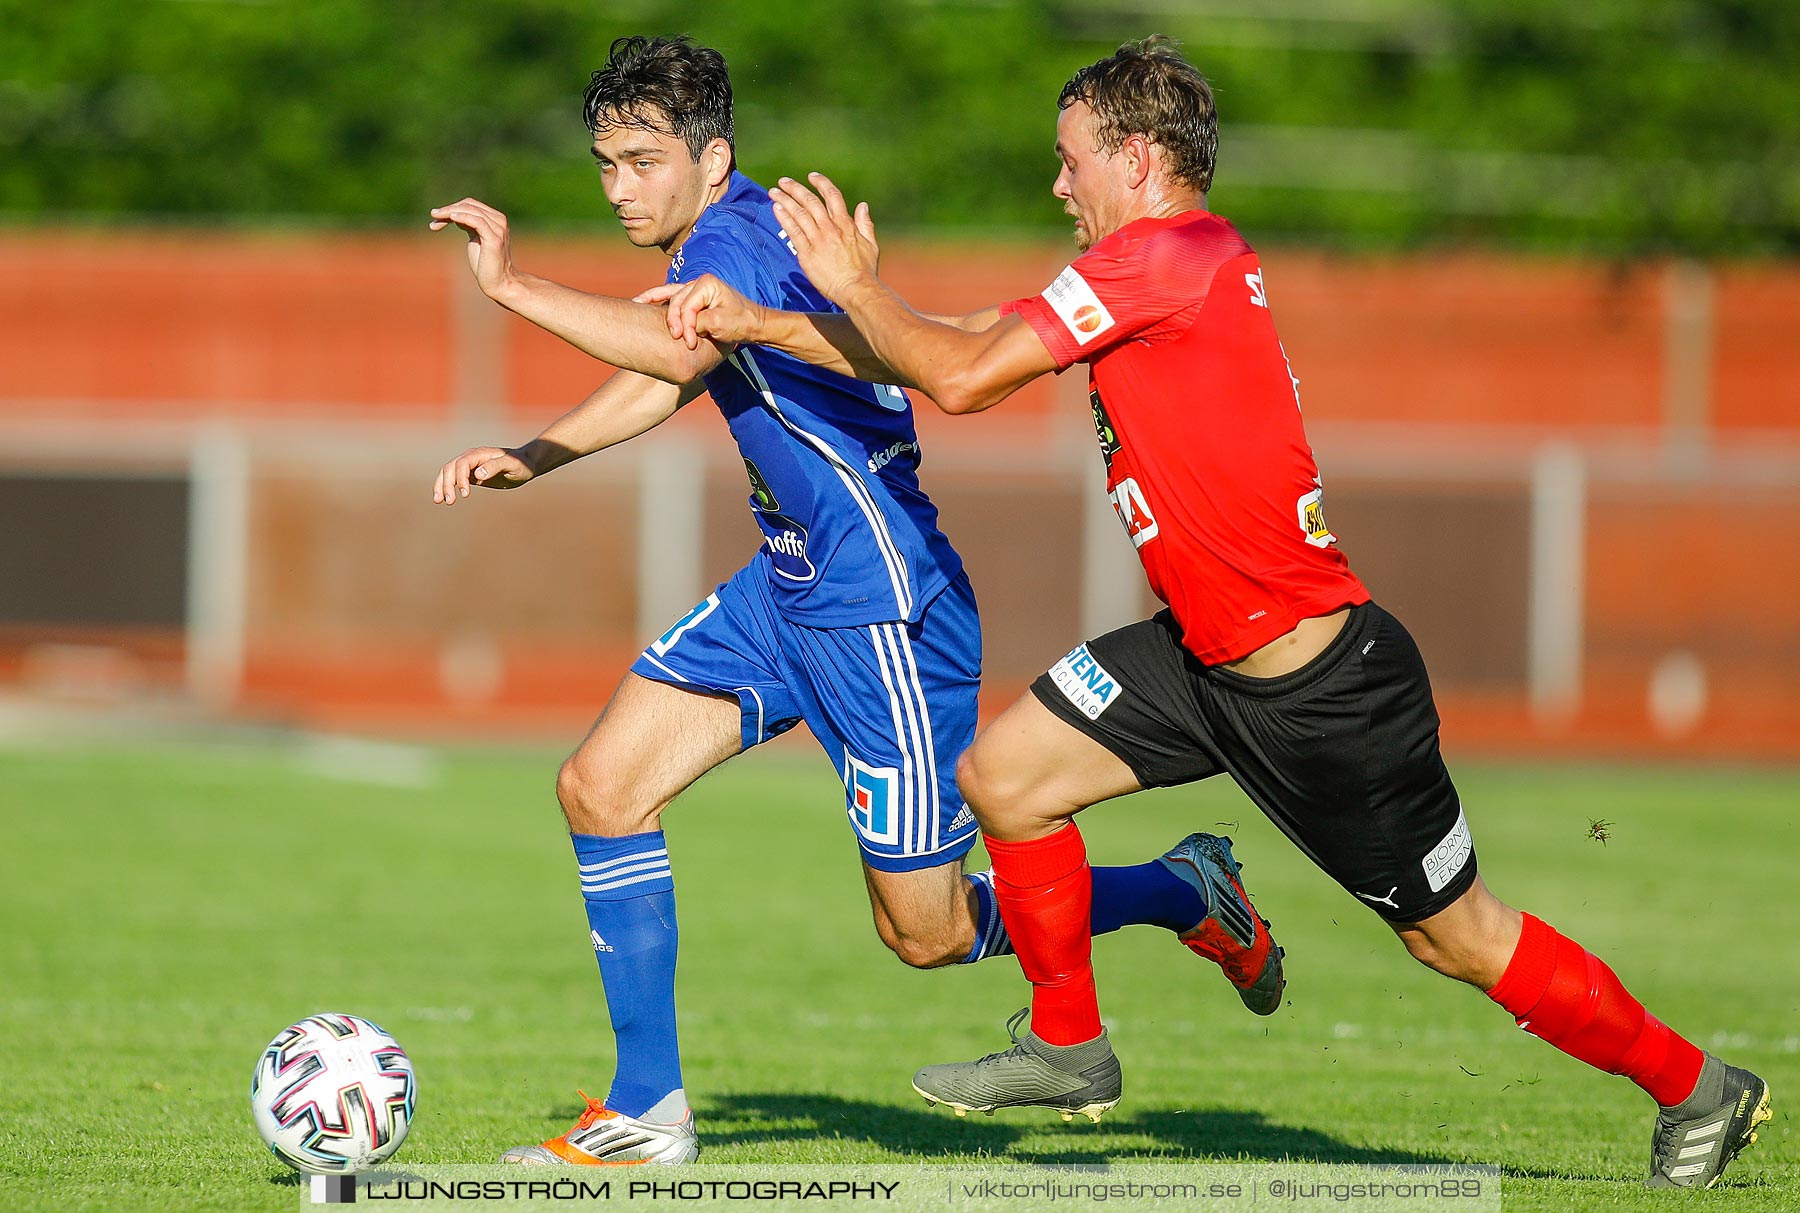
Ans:
[[[783,311],[837,311],[801,272],[769,193],[742,173],[695,223],[668,281],[702,274]],[[763,346],[740,346],[706,389],[743,455],[763,529],[756,560],[779,610],[817,628],[916,623],[963,562],[918,488],[905,392]]]

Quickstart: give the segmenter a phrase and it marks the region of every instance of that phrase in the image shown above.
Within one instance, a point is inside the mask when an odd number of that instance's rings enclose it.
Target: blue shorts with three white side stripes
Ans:
[[[632,673],[736,696],[743,749],[805,720],[844,779],[869,867],[936,867],[976,844],[974,813],[956,790],[981,684],[967,574],[918,623],[808,628],[776,608],[752,563],[677,619]]]

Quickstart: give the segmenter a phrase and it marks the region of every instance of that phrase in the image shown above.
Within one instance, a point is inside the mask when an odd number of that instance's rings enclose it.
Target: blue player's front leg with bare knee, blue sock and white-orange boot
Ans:
[[[589,1098],[569,1132],[500,1161],[608,1166],[698,1154],[675,1040],[675,903],[661,822],[680,792],[742,749],[742,727],[731,696],[626,673],[556,772],[556,799],[585,860],[581,893],[617,1073],[607,1100]]]

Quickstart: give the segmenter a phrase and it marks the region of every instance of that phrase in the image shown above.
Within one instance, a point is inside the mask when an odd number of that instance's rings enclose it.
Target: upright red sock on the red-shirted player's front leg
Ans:
[[[1100,1035],[1087,846],[1075,822],[1030,842],[981,837],[994,858],[994,900],[1031,983],[1031,1031],[1049,1044]]]

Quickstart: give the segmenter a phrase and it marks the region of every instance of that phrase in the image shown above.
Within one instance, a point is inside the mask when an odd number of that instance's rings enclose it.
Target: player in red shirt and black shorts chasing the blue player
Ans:
[[[1150,38],[1076,72],[1058,108],[1055,194],[1082,256],[1040,295],[959,320],[913,311],[877,277],[868,209],[851,212],[819,175],[817,194],[783,178],[776,214],[848,317],[769,313],[716,283],[657,293],[689,342],[772,344],[916,385],[945,412],[1085,362],[1107,493],[1168,605],[1078,644],[963,756],[1031,981],[1031,1031],[977,1062],[929,1065],[914,1087],[959,1112],[1098,1119],[1118,1101],[1073,819],[1226,772],[1418,961],[1643,1087],[1660,1105],[1651,1184],[1710,1186],[1769,1118],[1768,1083],[1701,1053],[1476,875],[1424,660],[1336,547],[1256,252],[1206,211],[1217,115],[1204,77]]]

